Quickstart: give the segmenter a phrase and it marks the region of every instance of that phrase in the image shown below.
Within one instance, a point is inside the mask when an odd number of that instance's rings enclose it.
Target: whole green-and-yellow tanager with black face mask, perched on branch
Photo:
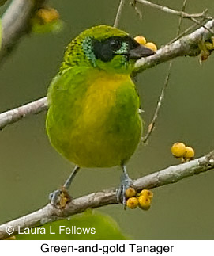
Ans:
[[[86,29],[68,44],[47,91],[46,119],[51,145],[75,164],[64,189],[83,167],[120,166],[117,199],[126,205],[126,189],[132,184],[126,163],[143,128],[131,74],[137,59],[154,53],[110,25]],[[51,193],[52,204],[60,193]]]

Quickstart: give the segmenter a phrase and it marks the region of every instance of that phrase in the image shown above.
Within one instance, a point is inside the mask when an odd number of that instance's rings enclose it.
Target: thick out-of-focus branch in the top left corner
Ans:
[[[22,36],[31,30],[32,13],[43,5],[45,0],[13,0],[2,17],[2,48],[0,63],[17,45]]]

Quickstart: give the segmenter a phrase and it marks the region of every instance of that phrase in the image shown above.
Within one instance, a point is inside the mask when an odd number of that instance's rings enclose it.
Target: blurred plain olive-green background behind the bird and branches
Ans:
[[[156,1],[182,8],[182,0]],[[0,67],[0,111],[13,109],[43,97],[58,71],[66,44],[92,25],[113,25],[119,1],[51,0],[64,21],[58,34],[34,34],[24,37],[16,51]],[[188,0],[186,12],[201,13],[208,8],[214,16],[212,0]],[[3,9],[2,9],[3,10]],[[140,20],[126,2],[119,28],[131,35],[144,35],[158,47],[175,37],[178,17],[141,6]],[[182,29],[192,25],[184,21]],[[178,164],[171,156],[171,144],[177,141],[195,148],[196,156],[214,148],[214,55],[199,64],[198,58],[175,59],[167,95],[148,145],[140,145],[128,164],[131,178]],[[168,63],[137,76],[145,124],[156,109]],[[47,204],[48,194],[68,177],[73,165],[51,147],[45,132],[45,113],[9,125],[0,132],[0,223],[32,212]],[[78,197],[118,185],[121,171],[81,170],[71,193]],[[98,182],[99,181],[99,182]],[[133,239],[214,239],[214,173],[212,170],[177,184],[153,189],[152,207],[124,211],[122,205],[99,210],[113,217],[125,234]]]

